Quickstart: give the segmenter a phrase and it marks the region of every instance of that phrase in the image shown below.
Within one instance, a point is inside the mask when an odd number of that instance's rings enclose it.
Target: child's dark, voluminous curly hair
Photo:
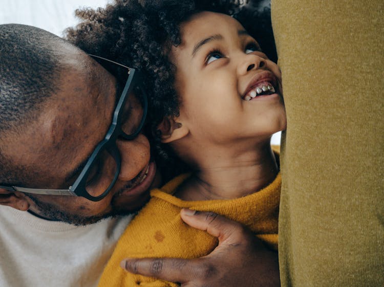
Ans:
[[[172,45],[181,42],[179,27],[199,11],[236,17],[266,54],[276,60],[270,8],[244,0],[115,0],[105,8],[80,9],[82,22],[66,30],[67,39],[90,54],[99,55],[140,69],[148,95],[147,136],[165,180],[185,170],[172,150],[160,142],[156,127],[164,117],[177,117],[179,98],[174,89],[175,67],[168,58]],[[115,74],[116,77],[119,75]]]

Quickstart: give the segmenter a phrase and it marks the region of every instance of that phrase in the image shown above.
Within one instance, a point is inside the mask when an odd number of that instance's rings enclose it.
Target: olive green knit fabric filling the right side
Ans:
[[[384,286],[384,1],[272,0],[283,286]]]

